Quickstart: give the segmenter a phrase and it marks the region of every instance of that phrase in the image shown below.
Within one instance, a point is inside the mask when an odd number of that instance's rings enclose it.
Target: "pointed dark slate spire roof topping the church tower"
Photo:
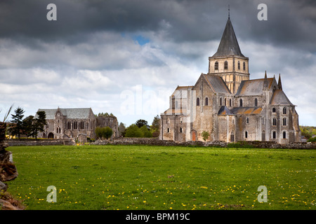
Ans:
[[[213,55],[213,57],[231,55],[244,57],[242,51],[239,48],[234,28],[232,28],[232,22],[230,22],[230,18],[228,18],[217,52]]]

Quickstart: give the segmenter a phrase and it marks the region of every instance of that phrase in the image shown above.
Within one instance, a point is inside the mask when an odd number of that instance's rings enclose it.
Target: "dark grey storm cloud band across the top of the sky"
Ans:
[[[57,6],[58,20],[46,20],[48,3]],[[259,3],[268,6],[268,21],[259,21]],[[43,41],[86,41],[97,31],[135,33],[171,26],[171,41],[218,40],[228,17],[228,4],[237,36],[315,51],[315,1],[1,1],[0,37]],[[27,42],[27,39],[25,39]],[[295,45],[294,45],[295,43]]]

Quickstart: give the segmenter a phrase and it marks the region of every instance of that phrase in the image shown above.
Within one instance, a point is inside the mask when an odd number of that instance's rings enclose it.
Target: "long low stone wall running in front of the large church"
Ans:
[[[292,142],[289,144],[277,144],[274,141],[239,141],[228,143],[224,141],[166,141],[147,138],[119,138],[114,141],[96,141],[93,145],[150,145],[150,146],[206,146],[223,148],[293,148],[316,149],[315,143]]]

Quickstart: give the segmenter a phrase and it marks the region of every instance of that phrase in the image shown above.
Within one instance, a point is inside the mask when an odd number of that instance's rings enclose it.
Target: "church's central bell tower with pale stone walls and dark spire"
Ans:
[[[217,52],[209,57],[209,74],[222,77],[230,92],[235,94],[242,80],[249,80],[248,64],[249,58],[239,48],[228,8],[228,21]]]

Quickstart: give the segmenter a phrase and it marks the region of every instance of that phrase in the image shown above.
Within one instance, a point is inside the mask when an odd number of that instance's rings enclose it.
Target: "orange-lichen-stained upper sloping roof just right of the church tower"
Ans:
[[[267,78],[268,89],[270,89],[274,78]],[[263,92],[263,83],[265,79],[253,79],[253,80],[243,80],[240,83],[236,96],[256,96],[261,95]]]

